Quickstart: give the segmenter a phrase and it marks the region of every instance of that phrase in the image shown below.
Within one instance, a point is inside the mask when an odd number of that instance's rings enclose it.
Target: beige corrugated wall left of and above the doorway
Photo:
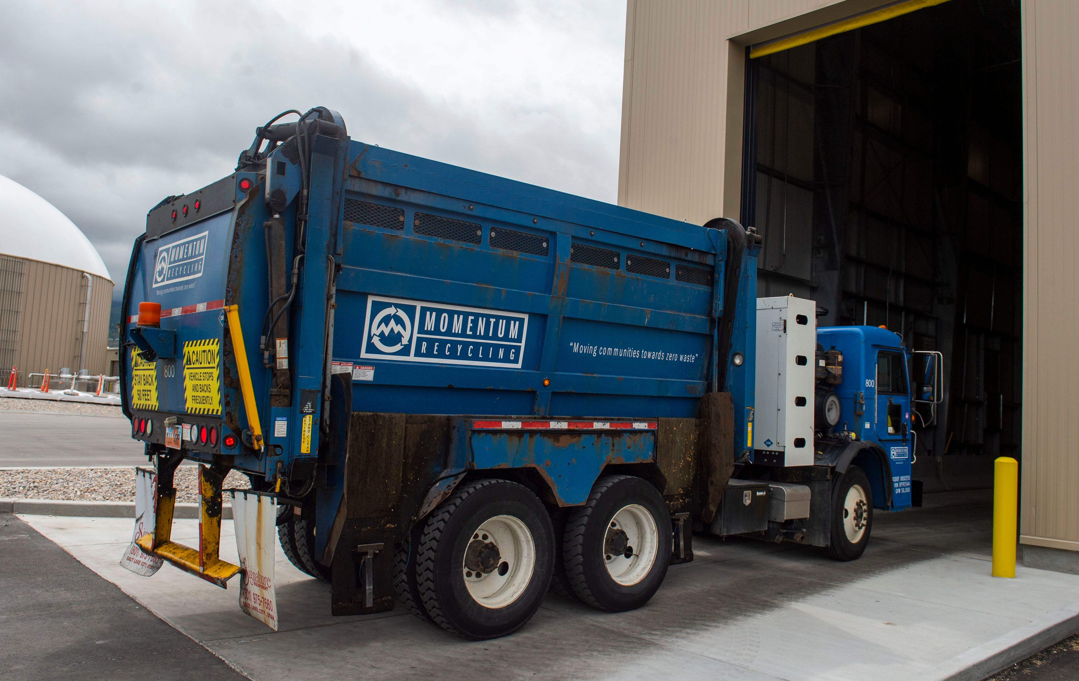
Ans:
[[[629,0],[618,204],[698,224],[737,217],[746,44],[883,4]]]

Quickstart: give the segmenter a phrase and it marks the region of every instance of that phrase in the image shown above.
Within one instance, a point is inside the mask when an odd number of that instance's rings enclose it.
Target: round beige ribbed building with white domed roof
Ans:
[[[0,374],[18,385],[30,373],[108,371],[106,345],[112,280],[71,220],[0,176]]]

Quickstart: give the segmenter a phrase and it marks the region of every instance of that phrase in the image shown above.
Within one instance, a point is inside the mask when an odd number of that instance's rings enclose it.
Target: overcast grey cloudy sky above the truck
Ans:
[[[117,292],[146,213],[285,109],[353,139],[616,199],[625,0],[0,0],[0,175],[63,210]]]

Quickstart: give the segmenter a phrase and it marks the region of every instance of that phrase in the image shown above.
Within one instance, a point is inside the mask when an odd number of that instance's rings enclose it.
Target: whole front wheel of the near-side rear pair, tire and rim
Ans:
[[[671,542],[670,512],[656,488],[632,476],[601,477],[565,522],[570,587],[595,608],[640,608],[667,576]]]

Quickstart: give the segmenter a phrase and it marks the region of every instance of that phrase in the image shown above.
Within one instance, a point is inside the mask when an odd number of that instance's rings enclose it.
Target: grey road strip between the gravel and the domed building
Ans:
[[[0,468],[146,465],[127,419],[0,411]]]

